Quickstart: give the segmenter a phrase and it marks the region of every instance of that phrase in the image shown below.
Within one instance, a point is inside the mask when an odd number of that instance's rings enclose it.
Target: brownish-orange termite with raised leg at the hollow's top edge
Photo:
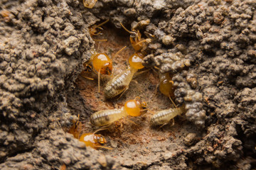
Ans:
[[[127,30],[127,28],[125,28],[122,23],[120,23],[120,25],[122,26],[122,28],[124,28],[124,30],[131,34],[130,42],[135,51],[143,52],[144,50],[146,50],[147,45],[149,45],[149,43],[152,41],[151,38],[144,39],[142,38],[142,34],[139,33],[139,30]]]

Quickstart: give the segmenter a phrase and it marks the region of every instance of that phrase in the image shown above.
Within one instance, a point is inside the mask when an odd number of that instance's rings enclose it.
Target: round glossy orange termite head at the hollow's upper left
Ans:
[[[92,66],[100,74],[112,74],[112,60],[105,53],[99,53],[93,56]]]

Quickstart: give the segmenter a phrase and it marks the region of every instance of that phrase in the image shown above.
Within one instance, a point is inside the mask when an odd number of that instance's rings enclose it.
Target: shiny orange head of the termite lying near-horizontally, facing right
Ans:
[[[136,97],[124,104],[124,110],[132,116],[142,115],[146,111],[146,102],[142,102],[139,97]]]

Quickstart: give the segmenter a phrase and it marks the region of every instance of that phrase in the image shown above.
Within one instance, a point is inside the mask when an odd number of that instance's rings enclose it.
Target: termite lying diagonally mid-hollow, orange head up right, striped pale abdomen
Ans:
[[[124,72],[117,74],[117,76],[110,79],[104,89],[106,98],[114,98],[119,94],[123,94],[129,87],[129,83],[132,81],[132,77],[138,71],[138,69],[144,68],[142,65],[142,59],[144,55],[137,52],[129,57],[129,66]]]

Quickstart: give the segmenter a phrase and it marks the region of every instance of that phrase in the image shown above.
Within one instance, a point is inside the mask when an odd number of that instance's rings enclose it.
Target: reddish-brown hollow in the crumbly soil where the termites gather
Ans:
[[[130,34],[123,28],[115,28],[110,22],[100,27],[102,28],[100,29],[101,34],[92,36],[95,39],[93,50],[97,53],[105,52],[109,55],[112,60],[112,74],[120,74],[128,68],[128,58],[135,52],[129,40]],[[125,25],[125,27],[130,30],[129,25]],[[143,31],[142,37],[146,38]],[[125,46],[127,47],[124,50],[112,57]],[[90,53],[92,52],[87,52],[87,55],[92,55]],[[93,69],[88,63],[88,67],[85,67],[85,70],[81,72],[75,81],[75,91],[79,91],[78,96],[70,96],[74,100],[68,99],[68,106],[72,108],[71,113],[73,110],[75,111],[74,115],[80,115],[79,121],[82,123],[80,125],[80,135],[82,133],[93,133],[99,129],[90,123],[90,116],[97,111],[114,108],[121,109],[126,101],[137,96],[147,104],[147,112],[145,114],[134,118],[129,116],[122,118],[112,123],[106,130],[96,132],[103,135],[107,140],[104,146],[112,148],[102,149],[106,154],[110,154],[113,157],[119,154],[121,156],[119,160],[121,161],[122,159],[132,159],[132,155],[136,151],[137,155],[135,157],[142,156],[139,160],[145,161],[144,156],[151,157],[152,154],[176,150],[179,148],[178,145],[186,145],[183,140],[189,133],[201,135],[191,123],[186,121],[185,115],[177,116],[174,125],[172,125],[172,122],[163,127],[150,125],[150,118],[156,111],[175,108],[169,97],[159,91],[159,70],[149,68],[141,69],[142,71],[139,70],[139,72],[143,73],[133,77],[129,84],[129,89],[122,96],[105,98],[104,87],[107,81],[110,81],[114,76],[100,74],[99,92],[98,74]],[[174,96],[171,95],[171,97]],[[73,123],[78,122],[74,120]],[[178,145],[170,148],[168,147],[170,143]],[[156,151],[158,149],[161,151]],[[154,159],[154,157],[151,157],[151,159]],[[136,160],[133,161],[137,162]]]

